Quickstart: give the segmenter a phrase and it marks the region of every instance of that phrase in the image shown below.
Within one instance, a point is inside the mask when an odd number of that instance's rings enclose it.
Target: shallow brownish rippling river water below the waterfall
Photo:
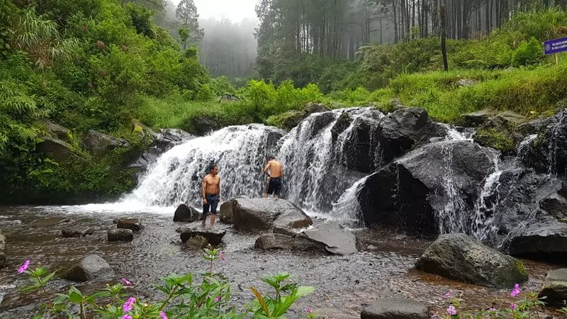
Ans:
[[[108,242],[106,231],[116,228],[116,217],[135,216],[145,229],[136,233],[132,242]],[[0,229],[6,236],[8,266],[0,269],[0,318],[30,318],[38,301],[19,296],[16,287],[24,277],[16,269],[26,259],[50,269],[66,269],[85,254],[99,254],[111,264],[116,281],[125,277],[133,282],[133,294],[152,298],[150,288],[159,276],[172,272],[198,273],[206,269],[201,253],[181,245],[171,213],[136,213],[135,215],[101,213],[88,209],[75,210],[62,206],[0,206]],[[315,220],[315,224],[322,220]],[[196,224],[195,224],[196,225]],[[93,235],[63,238],[67,226],[94,228]],[[308,306],[322,318],[360,318],[364,306],[378,298],[403,296],[429,303],[438,309],[447,307],[442,298],[451,290],[462,294],[464,308],[506,307],[512,301],[507,290],[489,289],[424,274],[413,269],[420,253],[430,242],[388,233],[384,230],[353,230],[361,251],[349,256],[326,256],[297,252],[254,249],[257,235],[235,233],[230,225],[219,221],[217,228],[227,230],[223,242],[225,261],[215,269],[232,281],[232,299],[237,304],[252,300],[249,286],[262,292],[268,287],[259,280],[264,274],[288,272],[301,285],[314,286],[315,292],[300,298],[288,318],[300,318]],[[550,269],[558,265],[526,262],[529,289],[537,289]],[[106,282],[79,284],[79,289],[99,289]],[[65,289],[69,281],[55,281],[55,289]],[[67,287],[68,288],[68,287]],[[560,318],[560,317],[556,317]]]

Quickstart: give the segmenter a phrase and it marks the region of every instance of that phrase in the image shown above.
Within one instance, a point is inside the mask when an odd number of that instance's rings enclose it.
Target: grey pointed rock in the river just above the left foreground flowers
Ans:
[[[75,264],[64,274],[65,279],[74,281],[91,281],[96,279],[110,279],[114,270],[102,257],[88,254],[81,262]]]

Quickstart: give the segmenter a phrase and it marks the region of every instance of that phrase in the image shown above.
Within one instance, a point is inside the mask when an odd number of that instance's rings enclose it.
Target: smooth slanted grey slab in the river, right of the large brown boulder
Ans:
[[[354,254],[357,250],[357,238],[349,230],[337,223],[323,223],[316,228],[303,230],[303,235],[312,242],[324,245],[331,254]]]

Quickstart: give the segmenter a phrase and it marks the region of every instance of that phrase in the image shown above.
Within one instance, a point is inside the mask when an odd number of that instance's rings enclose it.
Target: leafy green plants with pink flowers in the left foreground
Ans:
[[[221,273],[213,272],[213,262],[225,261],[224,252],[208,247],[204,250],[203,259],[208,261],[208,272],[198,276],[191,273],[179,275],[169,274],[160,279],[160,284],[153,285],[162,293],[162,298],[145,301],[131,296],[128,289],[132,283],[122,279],[120,283],[92,294],[84,294],[74,286],[67,293],[51,293],[49,282],[55,278],[56,272],[49,273],[44,267],[28,269],[27,260],[18,272],[28,275],[30,284],[20,288],[21,293],[38,293],[45,300],[40,317],[44,313],[67,315],[69,318],[285,318],[289,308],[298,298],[308,295],[315,289],[298,286],[293,282],[283,283],[288,274],[277,274],[262,279],[272,286],[276,297],[262,295],[254,287],[250,287],[254,297],[245,309],[239,310],[230,304],[230,281]],[[126,299],[126,296],[130,296]],[[93,315],[90,317],[90,315]],[[317,318],[309,309],[307,318]]]

